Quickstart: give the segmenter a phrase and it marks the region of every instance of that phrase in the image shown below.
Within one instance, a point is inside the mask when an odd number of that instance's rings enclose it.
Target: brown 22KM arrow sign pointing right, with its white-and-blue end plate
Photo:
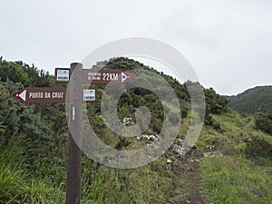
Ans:
[[[55,68],[55,82],[69,83],[70,69],[69,68]],[[121,70],[82,70],[83,83],[124,83],[132,79],[132,76]]]

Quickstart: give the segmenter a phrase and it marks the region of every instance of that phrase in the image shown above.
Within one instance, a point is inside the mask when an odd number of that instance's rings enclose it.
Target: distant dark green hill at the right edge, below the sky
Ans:
[[[257,86],[228,99],[228,106],[241,113],[272,113],[272,86]]]

